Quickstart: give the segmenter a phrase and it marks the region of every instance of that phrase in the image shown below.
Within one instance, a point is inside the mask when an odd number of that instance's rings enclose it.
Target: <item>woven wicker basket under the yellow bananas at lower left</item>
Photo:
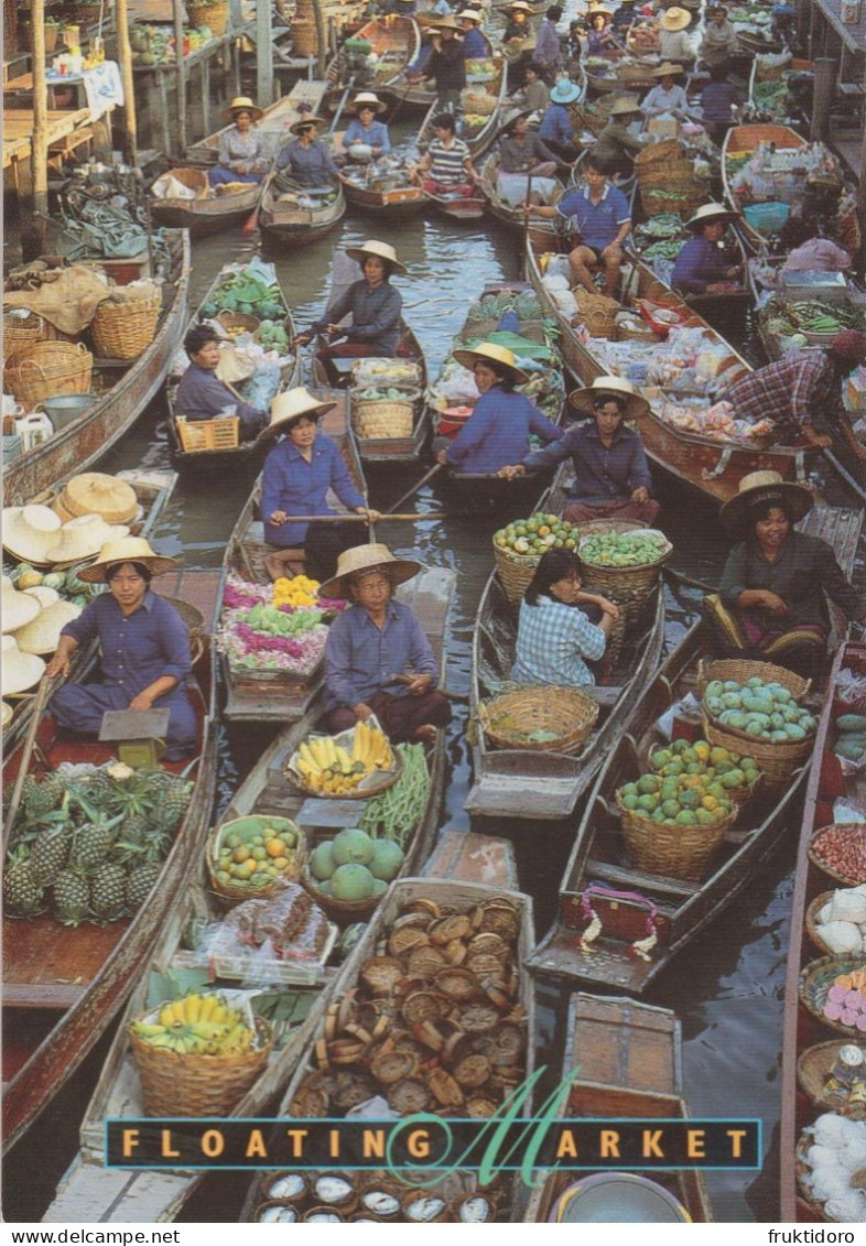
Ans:
[[[182,1055],[152,1047],[130,1030],[145,1115],[227,1116],[268,1063],[273,1030],[260,1017],[255,1018],[255,1030],[258,1045],[239,1055]]]

